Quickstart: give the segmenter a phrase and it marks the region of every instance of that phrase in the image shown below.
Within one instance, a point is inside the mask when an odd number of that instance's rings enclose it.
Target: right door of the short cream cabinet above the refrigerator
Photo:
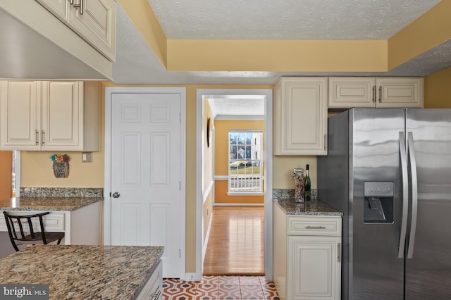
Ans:
[[[376,107],[423,107],[423,78],[377,78],[376,86]]]

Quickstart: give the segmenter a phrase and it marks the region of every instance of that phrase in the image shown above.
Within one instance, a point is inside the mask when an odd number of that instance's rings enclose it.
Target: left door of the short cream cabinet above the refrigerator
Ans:
[[[329,77],[329,108],[374,107],[375,77]]]

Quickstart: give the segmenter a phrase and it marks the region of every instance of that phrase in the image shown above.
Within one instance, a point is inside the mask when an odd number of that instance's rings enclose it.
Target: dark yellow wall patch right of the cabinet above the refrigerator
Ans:
[[[424,107],[451,108],[451,68],[424,77]]]

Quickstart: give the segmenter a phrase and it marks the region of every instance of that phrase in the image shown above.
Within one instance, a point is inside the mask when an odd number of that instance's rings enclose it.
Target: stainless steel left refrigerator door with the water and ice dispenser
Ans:
[[[350,121],[350,296],[404,297],[400,132],[405,111],[355,108]]]

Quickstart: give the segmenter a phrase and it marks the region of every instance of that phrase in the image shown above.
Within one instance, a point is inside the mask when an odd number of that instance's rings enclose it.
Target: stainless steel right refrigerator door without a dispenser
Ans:
[[[418,213],[416,232],[407,232],[412,258],[405,299],[451,299],[451,110],[407,109],[406,129],[413,137]]]

